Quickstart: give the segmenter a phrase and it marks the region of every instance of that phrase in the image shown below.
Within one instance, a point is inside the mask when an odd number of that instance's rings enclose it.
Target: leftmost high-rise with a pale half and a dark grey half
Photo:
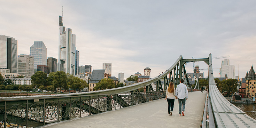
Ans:
[[[18,73],[17,40],[0,35],[0,68],[9,69],[10,73]]]

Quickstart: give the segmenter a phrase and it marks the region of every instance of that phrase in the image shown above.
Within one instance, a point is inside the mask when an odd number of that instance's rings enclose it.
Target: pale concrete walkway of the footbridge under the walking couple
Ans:
[[[46,128],[199,128],[206,92],[188,93],[185,117],[179,117],[178,100],[173,115],[168,115],[165,99],[48,125]]]

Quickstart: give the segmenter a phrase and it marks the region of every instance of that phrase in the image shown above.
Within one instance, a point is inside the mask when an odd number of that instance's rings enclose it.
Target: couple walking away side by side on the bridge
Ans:
[[[167,99],[168,102],[168,114],[172,115],[173,106],[174,106],[174,98],[178,99],[179,102],[179,116],[181,114],[185,116],[185,104],[186,99],[188,98],[188,91],[187,86],[183,84],[184,80],[180,80],[180,84],[177,86],[177,88],[174,88],[173,82],[169,83],[169,87],[166,89],[166,96],[165,100]],[[181,104],[182,104],[182,110],[181,110]]]

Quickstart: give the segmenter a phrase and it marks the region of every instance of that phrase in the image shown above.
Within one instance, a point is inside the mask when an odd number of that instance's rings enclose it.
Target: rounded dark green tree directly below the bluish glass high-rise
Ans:
[[[47,74],[42,71],[37,71],[31,76],[31,83],[33,87],[46,86],[47,84]]]

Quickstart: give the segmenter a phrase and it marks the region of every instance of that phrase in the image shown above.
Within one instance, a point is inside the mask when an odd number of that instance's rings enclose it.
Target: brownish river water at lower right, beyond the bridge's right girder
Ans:
[[[256,119],[256,104],[236,104],[234,103],[236,107],[241,109],[242,111],[245,111],[247,115],[249,115],[251,118]],[[248,112],[250,111],[250,112]],[[254,112],[253,112],[254,111]]]

